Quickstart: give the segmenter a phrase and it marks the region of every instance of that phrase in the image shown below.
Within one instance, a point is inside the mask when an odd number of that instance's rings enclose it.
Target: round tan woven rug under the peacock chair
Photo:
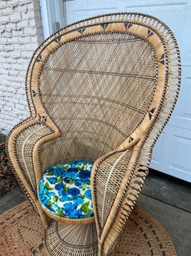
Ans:
[[[31,204],[25,201],[17,205],[0,216],[0,255],[47,255],[43,233],[43,224]],[[113,255],[177,256],[177,253],[163,226],[136,206]]]

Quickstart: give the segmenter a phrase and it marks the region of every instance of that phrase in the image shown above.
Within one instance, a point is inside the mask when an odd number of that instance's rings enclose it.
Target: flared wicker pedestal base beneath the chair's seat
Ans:
[[[44,233],[46,251],[52,256],[97,256],[95,223],[70,225],[52,221]]]

